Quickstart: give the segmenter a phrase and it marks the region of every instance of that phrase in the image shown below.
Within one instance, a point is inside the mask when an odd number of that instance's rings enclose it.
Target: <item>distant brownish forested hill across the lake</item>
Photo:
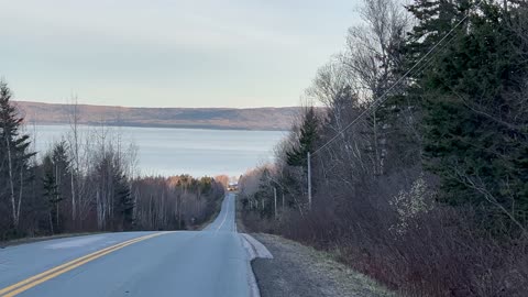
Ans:
[[[68,123],[72,106],[15,101],[26,122]],[[298,107],[286,108],[127,108],[79,105],[81,124],[238,130],[288,130]]]

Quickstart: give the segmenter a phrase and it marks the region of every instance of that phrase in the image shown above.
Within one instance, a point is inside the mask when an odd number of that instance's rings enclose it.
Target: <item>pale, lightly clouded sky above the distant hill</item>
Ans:
[[[14,99],[127,107],[298,106],[359,0],[0,0]]]

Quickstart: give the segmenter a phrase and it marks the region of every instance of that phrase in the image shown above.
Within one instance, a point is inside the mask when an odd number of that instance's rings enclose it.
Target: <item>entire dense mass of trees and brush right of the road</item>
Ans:
[[[361,14],[307,91],[324,108],[241,179],[245,224],[409,296],[526,296],[527,2],[364,0]]]

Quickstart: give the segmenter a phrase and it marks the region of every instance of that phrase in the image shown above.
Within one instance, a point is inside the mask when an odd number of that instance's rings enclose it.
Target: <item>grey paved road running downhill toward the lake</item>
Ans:
[[[254,296],[234,213],[230,194],[204,231],[108,233],[0,250],[0,296]]]

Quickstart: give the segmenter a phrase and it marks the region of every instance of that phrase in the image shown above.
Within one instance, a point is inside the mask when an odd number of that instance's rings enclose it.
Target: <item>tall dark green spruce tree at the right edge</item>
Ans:
[[[517,113],[512,98],[522,92],[528,65],[519,54],[526,48],[506,23],[515,8],[420,0],[410,11],[418,25],[409,61],[470,13],[415,74],[410,91],[424,110],[424,157],[441,177],[441,198],[476,207],[490,226],[504,226],[495,219],[507,218],[521,227],[528,215],[528,117]]]

